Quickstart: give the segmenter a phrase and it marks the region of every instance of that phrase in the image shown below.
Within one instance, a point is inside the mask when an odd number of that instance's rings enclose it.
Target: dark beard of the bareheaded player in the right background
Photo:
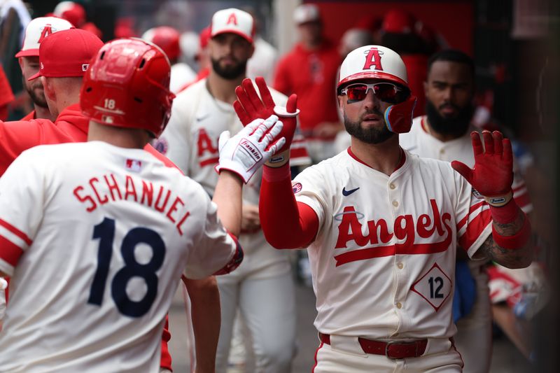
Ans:
[[[464,108],[452,106],[457,111],[457,115],[454,117],[444,117],[430,101],[426,101],[426,116],[428,117],[428,122],[430,123],[430,127],[438,134],[457,137],[463,136],[470,125],[472,114],[475,112],[475,106],[472,104],[468,104]]]

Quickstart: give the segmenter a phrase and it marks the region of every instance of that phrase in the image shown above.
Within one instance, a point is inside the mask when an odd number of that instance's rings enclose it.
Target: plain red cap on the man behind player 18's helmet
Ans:
[[[68,29],[46,37],[39,47],[38,76],[71,77],[84,76],[90,60],[101,49],[103,42],[90,31]]]

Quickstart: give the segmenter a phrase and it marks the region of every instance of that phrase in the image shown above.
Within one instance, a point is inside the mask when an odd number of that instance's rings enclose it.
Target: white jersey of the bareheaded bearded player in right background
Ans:
[[[410,132],[399,135],[399,143],[403,149],[408,150],[410,153],[420,155],[421,157],[433,158],[434,160],[443,160],[446,162],[458,160],[472,168],[475,165],[475,155],[472,153],[470,132],[474,130],[475,128],[472,127],[458,139],[440,141],[428,134],[426,115],[422,115],[412,120],[412,129],[410,129]],[[517,162],[514,162],[513,175],[513,197],[521,209],[528,213],[533,210],[533,204],[531,204],[525,182],[519,174]]]

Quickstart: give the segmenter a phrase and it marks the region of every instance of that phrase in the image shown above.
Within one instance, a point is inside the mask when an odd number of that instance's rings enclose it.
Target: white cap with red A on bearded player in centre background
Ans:
[[[249,13],[236,8],[218,10],[212,17],[210,27],[212,38],[230,32],[246,38],[249,43],[253,43],[253,36],[255,36],[253,17]]]

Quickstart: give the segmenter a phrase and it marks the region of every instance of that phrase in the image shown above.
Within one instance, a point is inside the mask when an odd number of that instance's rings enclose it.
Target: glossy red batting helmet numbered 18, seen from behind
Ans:
[[[80,93],[83,114],[104,125],[146,129],[158,137],[175,95],[165,53],[139,38],[106,43],[92,59]]]

